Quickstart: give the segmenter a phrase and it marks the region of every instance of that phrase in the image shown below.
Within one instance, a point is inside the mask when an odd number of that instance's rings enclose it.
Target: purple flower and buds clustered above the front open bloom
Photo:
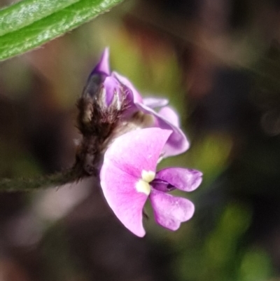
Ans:
[[[102,91],[99,91],[99,88],[102,88]],[[92,70],[84,89],[84,95],[90,97],[95,97],[97,92],[101,92],[102,95],[99,99],[102,101],[101,108],[120,104],[118,107],[120,109],[121,103],[126,103],[122,125],[134,123],[130,128],[155,127],[171,130],[172,133],[165,143],[164,157],[178,155],[189,148],[188,139],[179,128],[178,115],[172,108],[166,107],[168,100],[153,97],[144,99],[127,78],[116,72],[111,73],[108,48],[104,50],[101,59]],[[155,108],[160,110],[157,112]]]

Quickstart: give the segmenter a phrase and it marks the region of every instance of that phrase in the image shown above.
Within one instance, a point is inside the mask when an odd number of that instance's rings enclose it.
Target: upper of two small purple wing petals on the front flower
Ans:
[[[166,190],[160,187],[161,191],[169,191],[172,186],[182,191],[193,191],[200,186],[202,182],[202,172],[181,167],[167,167],[156,173],[155,179],[167,181],[171,186],[166,186]],[[153,187],[158,189],[157,186]]]

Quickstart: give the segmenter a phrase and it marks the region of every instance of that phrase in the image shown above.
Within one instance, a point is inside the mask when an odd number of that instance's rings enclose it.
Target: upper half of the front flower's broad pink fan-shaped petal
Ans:
[[[155,172],[162,148],[171,133],[160,128],[127,132],[109,146],[104,159],[111,160],[120,170],[140,179],[143,170]]]

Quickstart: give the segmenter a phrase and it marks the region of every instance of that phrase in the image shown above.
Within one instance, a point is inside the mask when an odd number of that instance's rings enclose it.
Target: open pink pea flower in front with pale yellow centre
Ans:
[[[181,167],[156,172],[172,130],[144,128],[118,137],[104,154],[100,171],[101,187],[116,217],[132,233],[143,237],[143,208],[151,200],[155,221],[176,231],[181,222],[193,217],[190,200],[170,195],[174,189],[193,191],[202,173]]]

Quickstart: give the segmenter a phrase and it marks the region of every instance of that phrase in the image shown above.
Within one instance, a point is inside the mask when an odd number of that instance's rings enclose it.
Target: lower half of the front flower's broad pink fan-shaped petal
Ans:
[[[104,197],[116,217],[132,233],[139,237],[145,235],[143,227],[143,207],[148,198],[135,188],[137,178],[120,170],[108,158],[100,171],[100,184]]]

